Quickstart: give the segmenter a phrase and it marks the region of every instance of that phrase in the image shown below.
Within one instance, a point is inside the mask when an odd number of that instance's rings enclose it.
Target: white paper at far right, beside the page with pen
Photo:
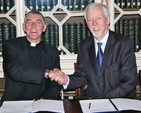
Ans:
[[[141,101],[136,99],[111,99],[119,111],[122,110],[138,110],[141,111]]]

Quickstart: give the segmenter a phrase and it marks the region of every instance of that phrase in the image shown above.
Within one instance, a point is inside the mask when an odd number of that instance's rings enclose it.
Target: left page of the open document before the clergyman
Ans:
[[[0,113],[29,113],[33,101],[4,101]]]

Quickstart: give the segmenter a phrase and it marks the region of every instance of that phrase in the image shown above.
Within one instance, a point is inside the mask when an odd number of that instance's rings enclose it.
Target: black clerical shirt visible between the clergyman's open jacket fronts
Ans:
[[[27,40],[31,67],[34,67],[34,68],[40,67],[41,43],[42,42],[36,44],[36,46],[34,47],[34,46],[31,46],[31,43]],[[25,87],[26,88],[24,93],[22,94],[21,99],[23,100],[39,99],[40,84],[27,83]]]

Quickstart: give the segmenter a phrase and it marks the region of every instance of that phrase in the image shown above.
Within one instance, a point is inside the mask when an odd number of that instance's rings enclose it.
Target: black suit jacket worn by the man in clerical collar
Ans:
[[[29,64],[26,37],[19,37],[3,43],[3,69],[6,73],[6,83],[2,100],[20,100],[28,83],[40,85],[40,98],[58,98],[61,86],[46,79],[44,73],[45,69],[60,69],[59,52],[45,42],[41,42],[41,44],[40,68],[33,68]]]

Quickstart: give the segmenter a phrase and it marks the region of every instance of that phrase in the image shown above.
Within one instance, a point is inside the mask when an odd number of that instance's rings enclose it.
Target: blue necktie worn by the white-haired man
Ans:
[[[103,59],[103,52],[102,52],[102,49],[101,49],[102,43],[99,42],[99,43],[97,43],[97,45],[98,45],[97,66],[98,66],[98,75],[100,75],[100,68],[101,68],[102,59]]]

